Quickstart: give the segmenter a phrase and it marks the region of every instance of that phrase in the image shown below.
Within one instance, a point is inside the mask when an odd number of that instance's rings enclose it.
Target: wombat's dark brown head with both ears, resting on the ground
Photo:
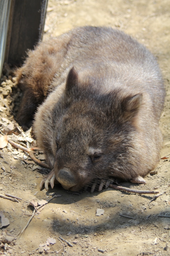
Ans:
[[[96,178],[131,178],[129,154],[142,95],[104,94],[99,83],[80,84],[72,68],[60,100],[51,110],[47,100],[35,116],[38,144],[66,189],[80,190]]]

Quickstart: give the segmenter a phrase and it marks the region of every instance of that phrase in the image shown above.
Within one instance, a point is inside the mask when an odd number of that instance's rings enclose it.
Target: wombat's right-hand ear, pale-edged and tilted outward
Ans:
[[[128,96],[122,101],[122,109],[126,112],[137,112],[142,104],[142,94]]]

